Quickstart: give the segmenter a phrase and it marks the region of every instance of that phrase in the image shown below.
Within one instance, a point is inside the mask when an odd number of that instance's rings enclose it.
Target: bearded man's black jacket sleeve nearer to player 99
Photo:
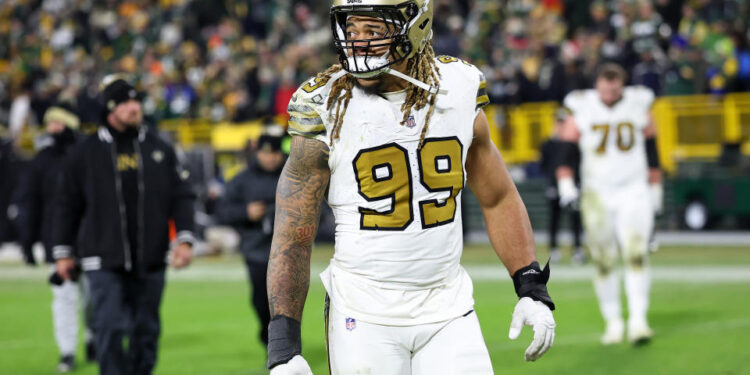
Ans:
[[[177,242],[195,242],[195,192],[188,182],[190,176],[187,170],[184,170],[177,160],[174,151],[170,151],[169,173],[172,180],[172,212],[171,217],[174,220],[177,229]]]

